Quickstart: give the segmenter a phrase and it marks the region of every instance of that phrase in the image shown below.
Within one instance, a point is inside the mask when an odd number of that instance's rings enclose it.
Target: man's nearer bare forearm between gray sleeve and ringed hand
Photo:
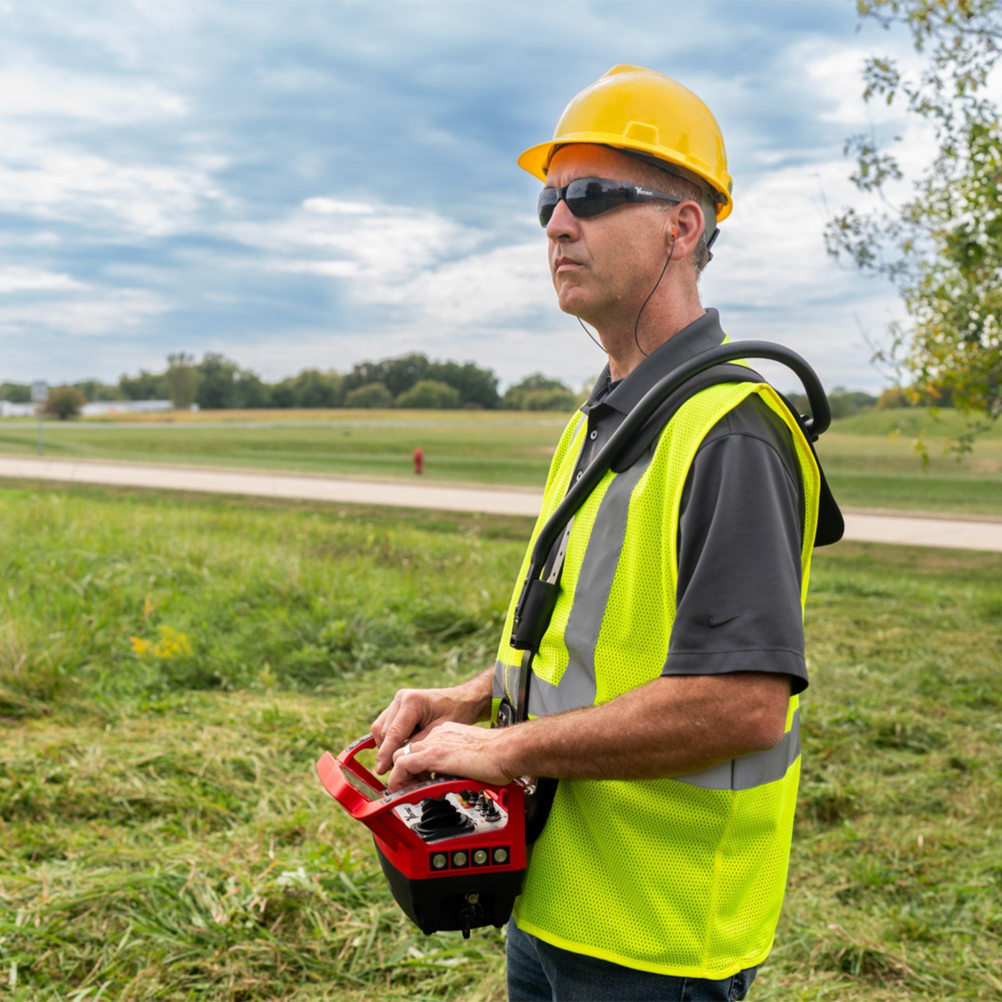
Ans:
[[[601,706],[510,727],[497,753],[512,779],[684,776],[776,744],[789,695],[786,675],[665,676]]]

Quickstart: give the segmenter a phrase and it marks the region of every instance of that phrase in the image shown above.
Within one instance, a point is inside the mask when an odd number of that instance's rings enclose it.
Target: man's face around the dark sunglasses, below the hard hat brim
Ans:
[[[546,186],[563,187],[578,177],[640,181],[625,153],[586,143],[557,150]],[[558,202],[546,235],[560,309],[599,326],[636,313],[664,267],[665,233],[674,215],[640,203],[578,219],[565,201]]]

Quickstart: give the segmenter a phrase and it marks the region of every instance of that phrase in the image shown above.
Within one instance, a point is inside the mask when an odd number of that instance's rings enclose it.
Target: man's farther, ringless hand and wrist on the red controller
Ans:
[[[379,746],[376,772],[387,772],[398,748],[407,741],[422,740],[443,723],[470,724],[485,719],[490,712],[492,675],[493,669],[488,668],[452,688],[401,689],[373,723],[373,737]]]

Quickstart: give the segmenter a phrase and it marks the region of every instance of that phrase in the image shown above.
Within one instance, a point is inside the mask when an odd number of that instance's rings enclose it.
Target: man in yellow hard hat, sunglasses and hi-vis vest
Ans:
[[[696,281],[730,177],[709,109],[634,66],[578,94],[519,163],[545,181],[560,308],[608,355],[538,533],[644,393],[726,340]],[[575,515],[531,718],[474,726],[512,694],[509,609],[493,671],[402,690],[374,723],[391,789],[429,772],[559,780],[508,927],[512,999],[745,997],[790,856],[819,478],[772,388],[702,390]]]

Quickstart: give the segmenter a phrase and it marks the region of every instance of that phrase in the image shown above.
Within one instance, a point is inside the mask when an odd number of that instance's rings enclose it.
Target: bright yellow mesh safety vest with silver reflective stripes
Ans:
[[[705,435],[758,393],[790,427],[806,495],[802,608],[820,473],[803,431],[765,383],[690,398],[628,470],[609,471],[575,516],[560,595],[533,660],[530,716],[599,705],[657,678],[675,617],[678,509]],[[586,420],[567,425],[516,579],[495,668],[495,713],[514,701],[512,617],[540,528],[567,489]],[[735,668],[739,668],[739,662]],[[561,781],[532,849],[519,929],[566,950],[679,977],[726,978],[769,954],[783,904],[800,777],[799,698],[776,747],[662,780]]]

